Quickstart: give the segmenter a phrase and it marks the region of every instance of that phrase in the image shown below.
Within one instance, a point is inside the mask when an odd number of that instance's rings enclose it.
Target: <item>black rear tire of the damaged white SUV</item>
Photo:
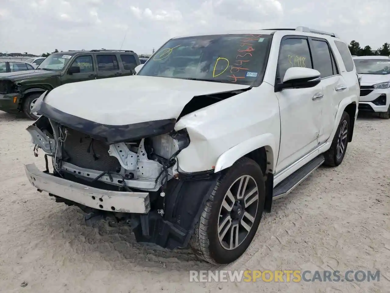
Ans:
[[[339,153],[339,143],[340,143],[340,133],[342,130],[342,127],[344,127],[346,123],[347,126],[347,133],[344,135],[341,135],[342,138],[346,135],[346,140],[343,140],[344,144],[344,149],[342,150],[342,153],[340,155]],[[349,139],[349,133],[351,132],[351,119],[349,118],[349,115],[347,112],[344,112],[341,116],[339,126],[337,127],[335,136],[333,137],[332,145],[330,146],[330,149],[324,153],[325,157],[325,166],[330,166],[330,167],[336,167],[339,166],[344,159],[345,153],[347,151],[347,146],[348,146],[348,139]]]

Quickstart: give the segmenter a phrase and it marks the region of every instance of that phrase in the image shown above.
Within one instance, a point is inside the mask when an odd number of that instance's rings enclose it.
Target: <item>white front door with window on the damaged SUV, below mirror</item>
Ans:
[[[280,43],[277,83],[289,67],[313,68],[308,39],[284,37]],[[276,93],[280,107],[280,149],[276,173],[290,166],[318,146],[321,129],[323,86],[284,89]]]

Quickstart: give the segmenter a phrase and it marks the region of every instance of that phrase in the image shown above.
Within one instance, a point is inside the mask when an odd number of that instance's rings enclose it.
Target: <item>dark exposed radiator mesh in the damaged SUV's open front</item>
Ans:
[[[63,161],[101,172],[121,170],[121,164],[117,158],[108,154],[110,147],[103,141],[92,139],[73,129],[67,130],[68,134],[62,147]]]

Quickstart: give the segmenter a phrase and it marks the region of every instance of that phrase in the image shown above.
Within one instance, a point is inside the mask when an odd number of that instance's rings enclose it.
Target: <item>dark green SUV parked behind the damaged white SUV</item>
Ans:
[[[35,70],[0,74],[0,111],[23,111],[36,120],[31,109],[39,96],[69,82],[135,74],[140,64],[130,50],[68,51],[49,55]]]

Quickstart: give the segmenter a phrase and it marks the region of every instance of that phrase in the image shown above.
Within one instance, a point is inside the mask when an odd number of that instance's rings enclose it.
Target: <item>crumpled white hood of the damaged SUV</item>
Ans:
[[[44,103],[95,123],[129,125],[177,119],[194,96],[248,87],[133,75],[64,84],[51,90]]]

